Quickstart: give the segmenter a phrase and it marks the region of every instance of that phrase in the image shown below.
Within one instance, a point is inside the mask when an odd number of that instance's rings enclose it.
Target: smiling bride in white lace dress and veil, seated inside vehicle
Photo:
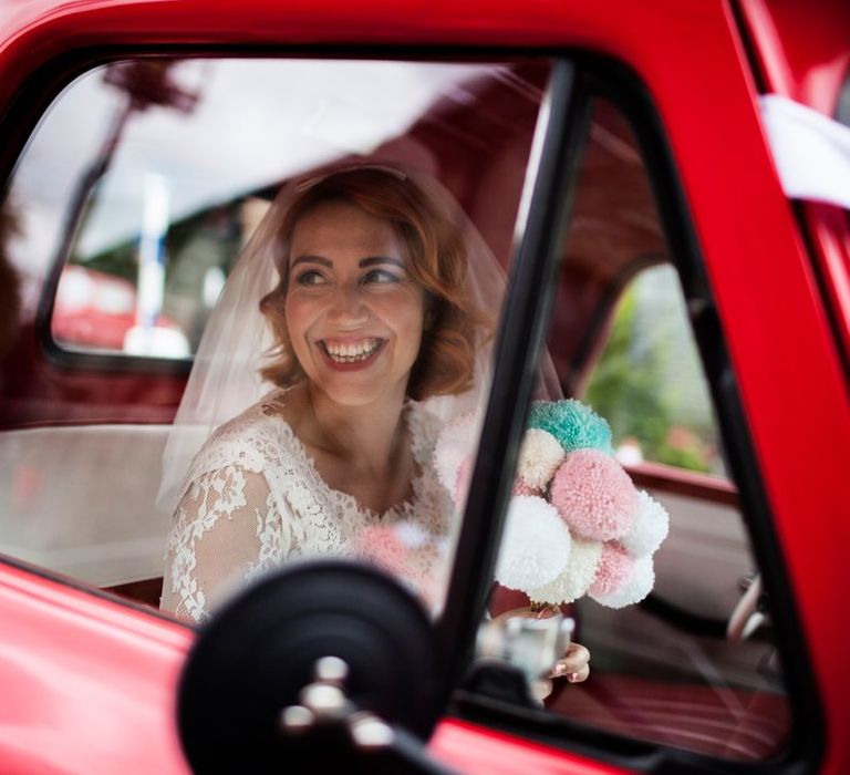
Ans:
[[[317,555],[377,561],[438,610],[457,520],[432,456],[443,422],[483,400],[481,306],[501,292],[495,258],[447,203],[408,173],[363,165],[272,206],[207,327],[166,450],[160,498],[177,505],[163,610],[203,621],[235,587]],[[269,331],[272,359],[257,369]],[[239,412],[257,373],[276,388]],[[393,527],[410,538],[403,561]],[[556,672],[583,680],[587,651]]]

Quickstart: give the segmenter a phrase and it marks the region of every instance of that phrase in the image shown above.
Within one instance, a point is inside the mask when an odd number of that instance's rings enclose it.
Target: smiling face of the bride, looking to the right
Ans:
[[[425,293],[405,269],[392,226],[329,202],[296,224],[286,319],[311,382],[362,406],[403,396],[422,343]]]

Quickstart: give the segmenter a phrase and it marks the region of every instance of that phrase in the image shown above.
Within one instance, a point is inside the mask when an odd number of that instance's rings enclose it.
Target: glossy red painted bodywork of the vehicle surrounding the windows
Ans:
[[[846,596],[836,583],[850,541],[847,384],[726,4],[440,0],[425,8],[400,0],[388,10],[377,0],[4,2],[0,103],[34,68],[69,50],[163,43],[563,45],[610,54],[639,74],[678,165],[805,627],[827,720],[822,772],[850,771]],[[800,63],[795,54],[782,64],[778,49],[769,55],[810,104],[833,99],[835,79],[815,73],[817,62]],[[95,756],[114,764],[105,767],[112,772],[179,768],[169,719],[187,633],[4,567],[0,621],[0,768],[60,772],[61,761],[79,761],[86,771]],[[613,772],[455,723],[440,727],[434,747],[467,772]],[[141,757],[135,762],[160,758],[134,768],[128,752]]]

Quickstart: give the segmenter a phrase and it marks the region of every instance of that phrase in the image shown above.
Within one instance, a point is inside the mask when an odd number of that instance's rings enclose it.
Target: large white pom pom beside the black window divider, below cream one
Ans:
[[[553,581],[570,559],[572,539],[554,507],[542,498],[517,495],[508,507],[496,564],[496,580],[527,591]]]

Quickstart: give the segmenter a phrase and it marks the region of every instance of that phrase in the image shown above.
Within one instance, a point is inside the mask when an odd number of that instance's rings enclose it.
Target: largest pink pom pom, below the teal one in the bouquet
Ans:
[[[618,462],[598,450],[567,455],[554,474],[551,502],[582,538],[607,541],[629,531],[638,514],[638,490]]]

